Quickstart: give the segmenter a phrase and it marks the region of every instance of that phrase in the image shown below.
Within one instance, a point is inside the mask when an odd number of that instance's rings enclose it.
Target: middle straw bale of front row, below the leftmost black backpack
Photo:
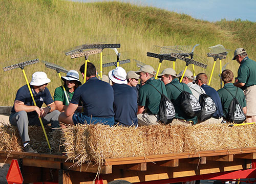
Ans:
[[[183,148],[184,126],[151,125],[138,127],[145,155],[179,153]]]

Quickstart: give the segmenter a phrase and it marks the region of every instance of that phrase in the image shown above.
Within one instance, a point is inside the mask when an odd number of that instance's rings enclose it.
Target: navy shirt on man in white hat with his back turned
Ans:
[[[127,84],[114,84],[115,124],[118,122],[127,126],[137,126],[137,93]]]

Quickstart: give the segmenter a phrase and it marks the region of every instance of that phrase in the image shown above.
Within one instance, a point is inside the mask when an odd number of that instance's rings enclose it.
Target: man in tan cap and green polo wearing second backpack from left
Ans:
[[[180,83],[177,74],[173,68],[166,68],[163,70],[161,74],[158,75],[159,78],[164,82],[167,97],[172,101],[175,108],[175,119],[172,122],[172,125],[184,125],[191,126],[192,124],[197,123],[197,117],[188,118],[182,110],[181,102],[180,102],[180,94],[183,90],[192,94],[188,85],[185,83]],[[178,89],[179,88],[179,89]]]

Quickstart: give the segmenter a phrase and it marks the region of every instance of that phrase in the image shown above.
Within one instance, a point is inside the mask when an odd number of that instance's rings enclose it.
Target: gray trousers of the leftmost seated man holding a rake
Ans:
[[[58,110],[54,110],[42,119],[42,124],[47,125],[51,123],[51,126],[54,128],[59,127],[59,117],[60,112]],[[19,112],[12,112],[9,118],[10,124],[17,126],[19,135],[22,138],[22,142],[30,141],[29,139],[29,125],[41,126],[38,117],[28,118],[28,114],[26,111],[22,110]]]

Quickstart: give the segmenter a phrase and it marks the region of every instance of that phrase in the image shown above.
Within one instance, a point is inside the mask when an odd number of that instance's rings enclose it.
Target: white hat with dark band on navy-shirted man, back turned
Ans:
[[[111,70],[109,72],[109,78],[114,83],[117,83],[117,84],[127,84],[126,72],[120,66],[117,66],[114,70]]]

